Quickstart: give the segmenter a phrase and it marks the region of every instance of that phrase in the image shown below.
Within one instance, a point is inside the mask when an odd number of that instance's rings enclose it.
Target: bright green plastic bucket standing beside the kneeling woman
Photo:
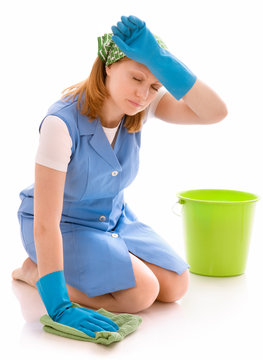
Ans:
[[[177,203],[182,204],[190,272],[206,276],[243,274],[259,197],[223,189],[188,190],[176,195]]]

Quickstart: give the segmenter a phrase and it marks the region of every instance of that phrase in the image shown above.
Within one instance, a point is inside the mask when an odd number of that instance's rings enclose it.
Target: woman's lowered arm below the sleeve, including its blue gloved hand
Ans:
[[[91,337],[97,331],[119,328],[94,310],[73,307],[63,271],[63,242],[60,219],[66,172],[36,164],[34,236],[40,279],[37,290],[53,321],[83,331]]]

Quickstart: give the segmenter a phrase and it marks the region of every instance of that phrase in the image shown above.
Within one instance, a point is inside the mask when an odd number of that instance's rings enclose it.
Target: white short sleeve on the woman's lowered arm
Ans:
[[[58,116],[47,116],[41,126],[35,162],[67,172],[72,140],[65,122]]]

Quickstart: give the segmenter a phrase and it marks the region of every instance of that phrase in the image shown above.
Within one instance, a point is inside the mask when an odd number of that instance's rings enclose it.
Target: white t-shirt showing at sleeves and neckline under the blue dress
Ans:
[[[148,118],[154,117],[156,107],[167,90],[162,87],[157,96],[146,109],[144,123]],[[105,128],[103,130],[112,144],[119,125],[116,128]],[[39,145],[35,162],[49,168],[67,171],[71,156],[72,140],[65,122],[58,116],[48,115],[42,123],[39,135]]]

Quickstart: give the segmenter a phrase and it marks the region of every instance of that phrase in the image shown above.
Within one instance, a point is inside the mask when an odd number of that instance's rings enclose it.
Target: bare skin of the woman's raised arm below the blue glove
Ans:
[[[160,100],[155,116],[173,124],[212,124],[227,116],[227,107],[220,97],[201,80],[181,100],[170,93]]]

